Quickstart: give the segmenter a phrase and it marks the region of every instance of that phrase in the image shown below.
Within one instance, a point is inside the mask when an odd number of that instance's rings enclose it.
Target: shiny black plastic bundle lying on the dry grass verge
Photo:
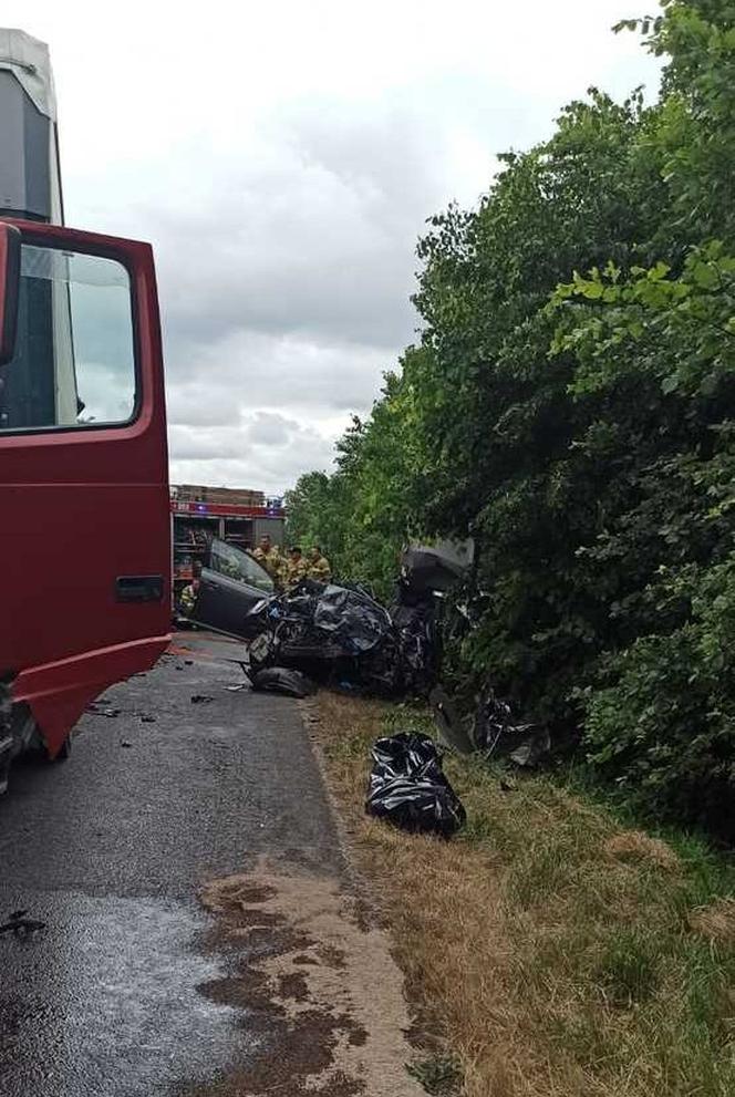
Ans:
[[[444,775],[442,755],[428,735],[400,732],[372,747],[373,768],[365,810],[403,830],[451,838],[466,821],[458,796]]]

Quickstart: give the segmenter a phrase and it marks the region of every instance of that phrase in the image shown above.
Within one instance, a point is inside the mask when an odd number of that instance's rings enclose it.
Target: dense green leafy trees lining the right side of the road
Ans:
[[[421,343],[291,522],[382,590],[408,537],[474,536],[466,673],[735,834],[735,3],[629,27],[659,101],[591,89],[432,218]]]

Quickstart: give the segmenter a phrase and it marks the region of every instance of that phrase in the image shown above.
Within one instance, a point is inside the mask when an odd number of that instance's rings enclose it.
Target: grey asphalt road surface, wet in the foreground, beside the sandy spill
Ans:
[[[195,649],[108,691],[120,713],[85,715],[69,762],[11,773],[0,914],[46,929],[0,936],[3,1097],[209,1093],[277,1054],[277,1024],[201,991],[235,961],[197,892],[259,855],[339,878],[339,844],[296,702],[228,691],[238,646]]]

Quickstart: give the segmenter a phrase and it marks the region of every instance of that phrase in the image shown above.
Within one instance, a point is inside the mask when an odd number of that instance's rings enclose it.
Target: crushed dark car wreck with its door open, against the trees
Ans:
[[[465,568],[441,549],[412,546],[386,609],[359,584],[304,579],[277,592],[252,557],[213,538],[182,610],[250,640],[251,676],[284,667],[343,689],[426,695],[439,671],[442,599]]]

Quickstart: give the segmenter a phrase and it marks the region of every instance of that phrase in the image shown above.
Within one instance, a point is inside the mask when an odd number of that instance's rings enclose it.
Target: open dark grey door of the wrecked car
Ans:
[[[252,631],[248,613],[273,590],[273,580],[257,560],[215,537],[201,569],[190,619],[219,632],[247,638]]]

